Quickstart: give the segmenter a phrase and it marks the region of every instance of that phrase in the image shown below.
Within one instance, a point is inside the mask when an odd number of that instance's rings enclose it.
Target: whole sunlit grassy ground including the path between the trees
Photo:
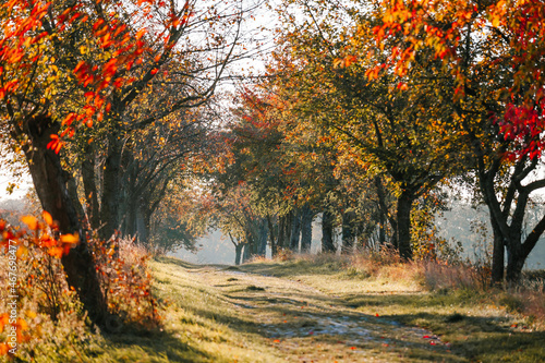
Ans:
[[[22,361],[545,360],[543,319],[524,313],[538,295],[483,290],[465,277],[456,286],[460,270],[443,269],[439,277],[424,265],[328,255],[238,267],[161,257],[149,268],[161,326],[121,325],[116,334],[87,330],[66,339],[82,326],[65,319],[36,344],[34,360]],[[532,277],[534,289],[540,278]]]

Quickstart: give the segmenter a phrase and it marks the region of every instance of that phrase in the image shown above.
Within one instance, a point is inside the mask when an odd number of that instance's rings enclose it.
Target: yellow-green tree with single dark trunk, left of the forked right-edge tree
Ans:
[[[301,4],[306,17],[298,23],[295,16],[286,16],[283,41],[300,66],[283,87],[298,89],[300,114],[326,125],[346,141],[348,153],[392,180],[397,196],[392,243],[403,258],[411,258],[415,201],[456,173],[462,162],[455,157],[460,155],[459,135],[441,128],[441,122],[448,124],[450,110],[428,97],[441,93],[443,85],[417,81],[440,80],[439,64],[420,62],[403,82],[388,73],[370,78],[370,68],[387,59],[393,46],[372,46],[371,29],[377,19],[364,15],[364,4],[341,9],[324,2],[294,2]],[[358,29],[348,20],[353,20]],[[348,41],[352,32],[362,34],[355,44]],[[411,82],[414,87],[408,86]]]

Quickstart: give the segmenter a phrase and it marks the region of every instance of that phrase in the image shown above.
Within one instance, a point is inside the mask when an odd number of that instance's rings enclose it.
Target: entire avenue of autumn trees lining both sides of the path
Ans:
[[[344,254],[435,258],[433,216],[460,180],[489,209],[492,282],[520,278],[545,231],[545,215],[525,228],[545,190],[545,3],[278,7],[265,74],[227,101],[258,1],[0,5],[0,141],[78,235],[62,264],[95,322],[92,231],[168,251],[215,226],[240,263],[308,252],[320,220],[323,252],[340,231]]]

